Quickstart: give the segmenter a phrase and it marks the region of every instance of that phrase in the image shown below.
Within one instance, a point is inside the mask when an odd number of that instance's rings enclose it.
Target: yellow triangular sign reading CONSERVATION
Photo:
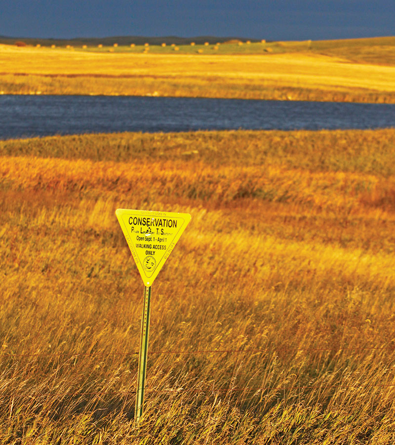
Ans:
[[[117,208],[115,214],[141,278],[150,287],[191,221],[191,215],[125,208]]]

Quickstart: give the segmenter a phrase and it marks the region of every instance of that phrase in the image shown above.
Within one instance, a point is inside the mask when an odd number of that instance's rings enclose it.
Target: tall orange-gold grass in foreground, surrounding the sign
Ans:
[[[1,444],[393,444],[395,130],[0,141]],[[153,285],[115,209],[192,221]]]

